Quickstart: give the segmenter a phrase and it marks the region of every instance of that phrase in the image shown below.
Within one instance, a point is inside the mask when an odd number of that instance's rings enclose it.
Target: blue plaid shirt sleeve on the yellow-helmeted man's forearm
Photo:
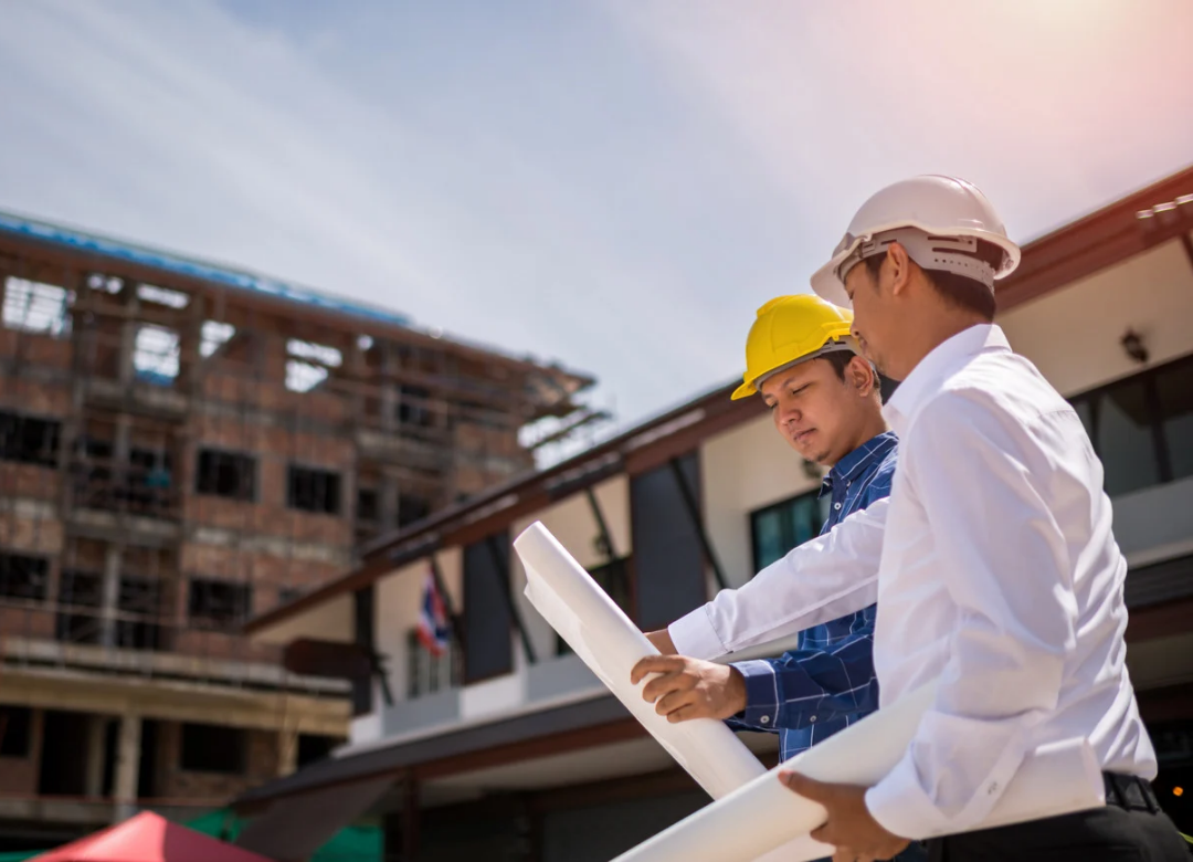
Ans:
[[[796,649],[778,659],[738,661],[746,709],[736,729],[798,729],[878,708],[872,626],[826,649]]]

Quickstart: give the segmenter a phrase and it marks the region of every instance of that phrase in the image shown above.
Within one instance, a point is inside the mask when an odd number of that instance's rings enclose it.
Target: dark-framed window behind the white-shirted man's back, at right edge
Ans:
[[[1193,357],[1069,399],[1111,497],[1193,475]]]

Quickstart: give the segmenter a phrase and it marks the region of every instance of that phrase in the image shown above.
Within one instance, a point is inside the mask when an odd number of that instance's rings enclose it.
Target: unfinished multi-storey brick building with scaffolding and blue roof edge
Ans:
[[[241,623],[600,418],[583,375],[0,214],[0,850],[202,813],[347,735]]]

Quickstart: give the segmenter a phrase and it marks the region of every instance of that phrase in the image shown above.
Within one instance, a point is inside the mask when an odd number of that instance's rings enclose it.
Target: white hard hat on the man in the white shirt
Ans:
[[[849,308],[845,277],[863,259],[898,241],[925,270],[946,270],[983,282],[1010,275],[1019,265],[1019,246],[1007,238],[1002,220],[977,186],[954,177],[925,176],[889,185],[864,204],[833,252],[812,275],[812,290]],[[999,266],[973,257],[978,240],[1005,254]]]

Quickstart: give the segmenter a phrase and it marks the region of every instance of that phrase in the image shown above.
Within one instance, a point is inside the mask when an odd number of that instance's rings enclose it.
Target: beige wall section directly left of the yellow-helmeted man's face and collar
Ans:
[[[754,575],[750,512],[820,485],[768,415],[705,441],[700,476],[704,523],[731,586]]]

